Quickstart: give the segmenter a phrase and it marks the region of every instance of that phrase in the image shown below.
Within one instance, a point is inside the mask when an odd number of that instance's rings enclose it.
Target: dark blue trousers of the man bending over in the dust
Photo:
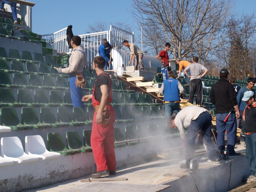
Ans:
[[[218,159],[219,155],[216,154],[216,149],[211,140],[211,126],[212,116],[207,111],[201,113],[196,120],[191,121],[191,124],[188,127],[188,133],[186,135],[186,160],[188,159],[188,157],[192,158],[194,155],[194,152],[196,150],[195,140],[200,130],[202,130],[202,138],[207,156],[211,161]]]

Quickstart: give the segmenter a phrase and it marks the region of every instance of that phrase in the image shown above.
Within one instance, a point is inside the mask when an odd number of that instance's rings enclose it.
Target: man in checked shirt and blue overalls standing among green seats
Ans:
[[[79,36],[73,36],[70,42],[73,50],[71,51],[70,57],[68,59],[67,68],[58,68],[58,72],[69,74],[70,94],[73,107],[82,107],[85,110],[84,102],[82,101],[83,89],[81,87],[77,87],[75,84],[76,74],[84,72],[84,48],[81,46],[81,37]]]

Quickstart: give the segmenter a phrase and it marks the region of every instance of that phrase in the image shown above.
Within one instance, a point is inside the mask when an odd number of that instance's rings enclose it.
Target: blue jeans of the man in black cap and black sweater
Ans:
[[[216,129],[217,129],[217,147],[220,151],[225,149],[225,140],[224,135],[227,128],[227,135],[228,135],[228,145],[227,149],[230,155],[236,153],[235,143],[236,143],[236,114],[230,113],[228,120],[224,123],[224,119],[227,117],[228,113],[218,113],[216,114]]]

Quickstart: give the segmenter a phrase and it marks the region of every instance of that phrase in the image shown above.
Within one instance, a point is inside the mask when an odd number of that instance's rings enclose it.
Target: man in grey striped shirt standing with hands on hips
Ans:
[[[198,57],[193,57],[193,62],[184,70],[184,73],[190,78],[189,84],[189,98],[188,102],[193,104],[194,94],[197,94],[197,104],[203,106],[203,93],[202,93],[202,77],[206,75],[208,69],[203,65],[197,63]],[[190,76],[188,72],[190,71]]]

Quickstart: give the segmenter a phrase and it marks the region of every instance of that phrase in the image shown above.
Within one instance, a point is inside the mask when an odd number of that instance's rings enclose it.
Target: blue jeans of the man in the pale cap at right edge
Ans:
[[[256,174],[256,133],[245,135],[246,160],[251,169],[251,175]]]

